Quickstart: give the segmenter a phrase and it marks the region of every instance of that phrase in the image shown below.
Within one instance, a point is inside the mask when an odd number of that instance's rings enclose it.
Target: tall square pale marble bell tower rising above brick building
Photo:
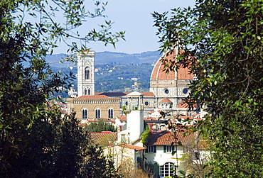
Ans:
[[[77,96],[95,95],[94,57],[90,50],[77,54]]]

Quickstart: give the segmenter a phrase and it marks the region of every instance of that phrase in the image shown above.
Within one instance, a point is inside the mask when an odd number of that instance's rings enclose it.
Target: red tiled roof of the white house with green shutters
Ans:
[[[185,145],[193,140],[193,133],[188,133],[183,136],[184,133],[168,132],[164,131],[161,133],[150,133],[148,142],[146,145],[172,145],[178,142]]]

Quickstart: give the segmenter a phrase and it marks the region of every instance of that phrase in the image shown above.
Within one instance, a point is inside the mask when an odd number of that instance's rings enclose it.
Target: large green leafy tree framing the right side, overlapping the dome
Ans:
[[[196,128],[211,141],[210,174],[262,177],[262,1],[196,1],[172,14],[153,14],[161,49],[181,53],[163,62],[198,78],[187,101],[208,113]]]

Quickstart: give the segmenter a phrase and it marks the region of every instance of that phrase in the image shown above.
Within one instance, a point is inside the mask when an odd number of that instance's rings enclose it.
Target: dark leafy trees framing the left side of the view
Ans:
[[[103,16],[105,5],[96,2],[95,13],[86,13],[79,0],[0,2],[1,177],[81,176],[89,143],[87,133],[74,115],[62,116],[48,101],[51,93],[69,85],[71,74],[61,77],[53,73],[45,56],[58,41],[74,38],[73,32],[77,33],[86,17]],[[63,13],[65,23],[55,21],[58,13]],[[111,26],[107,22],[102,30],[75,38],[114,45],[124,33],[111,33]],[[77,50],[75,43],[70,46],[72,51]]]

